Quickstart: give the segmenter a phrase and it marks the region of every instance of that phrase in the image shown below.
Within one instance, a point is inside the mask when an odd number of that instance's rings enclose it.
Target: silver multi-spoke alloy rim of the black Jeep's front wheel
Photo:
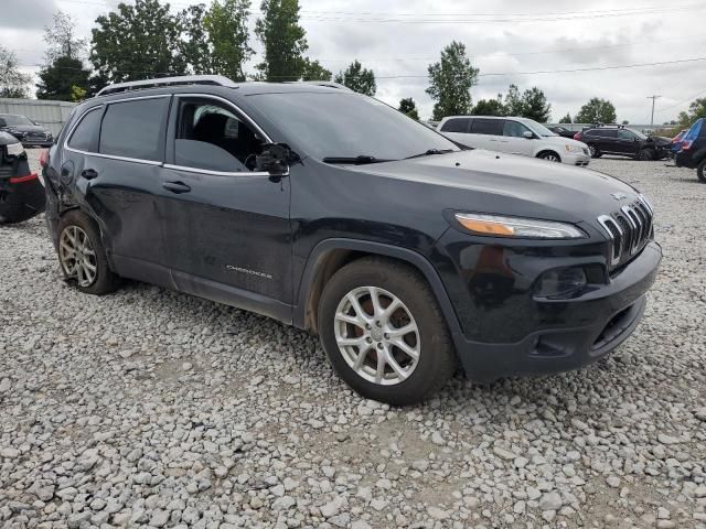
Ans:
[[[335,312],[334,334],[346,364],[382,386],[405,381],[419,363],[419,328],[407,306],[377,287],[350,291]]]

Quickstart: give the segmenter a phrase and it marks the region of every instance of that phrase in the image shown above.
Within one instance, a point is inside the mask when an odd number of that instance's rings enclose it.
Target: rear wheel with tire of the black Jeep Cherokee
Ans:
[[[58,263],[69,283],[81,292],[95,295],[117,289],[119,278],[110,270],[100,231],[93,219],[81,212],[68,212],[60,219],[56,233]],[[83,258],[72,257],[76,248]]]

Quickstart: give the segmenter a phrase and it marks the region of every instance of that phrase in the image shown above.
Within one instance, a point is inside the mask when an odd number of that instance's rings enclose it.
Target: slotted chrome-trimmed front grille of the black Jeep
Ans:
[[[610,266],[616,267],[639,253],[652,238],[652,209],[642,201],[598,217],[611,240]]]

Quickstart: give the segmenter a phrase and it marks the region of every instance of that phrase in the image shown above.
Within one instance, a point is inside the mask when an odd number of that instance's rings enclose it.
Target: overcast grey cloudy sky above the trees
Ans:
[[[96,17],[117,3],[2,0],[0,44],[15,51],[24,68],[34,73],[43,57],[43,26],[51,22],[53,12],[61,9],[69,13],[78,22],[78,32],[89,36]],[[180,10],[190,3],[197,2],[173,0],[171,6]],[[300,3],[309,56],[333,72],[359,58],[378,78],[377,97],[395,105],[402,97],[413,97],[422,117],[428,117],[432,107],[425,94],[427,66],[451,40],[463,42],[480,68],[473,100],[504,93],[510,83],[522,89],[538,86],[552,102],[555,120],[567,111],[574,115],[590,97],[598,96],[613,101],[620,120],[649,123],[648,96],[656,94],[662,98],[656,101],[655,122],[663,122],[686,109],[694,97],[706,94],[706,61],[688,61],[706,57],[706,33],[700,28],[706,2],[700,0],[672,4],[655,0]],[[259,0],[253,4],[250,26]],[[257,43],[252,45],[259,50]],[[612,68],[665,62],[676,63]],[[606,67],[609,69],[592,69]],[[582,72],[566,72],[576,69]],[[547,71],[554,73],[538,73]]]

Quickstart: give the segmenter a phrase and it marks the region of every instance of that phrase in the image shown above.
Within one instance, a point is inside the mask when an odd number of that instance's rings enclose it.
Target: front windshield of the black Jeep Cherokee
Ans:
[[[359,94],[258,94],[250,100],[307,154],[319,160],[400,160],[430,150],[459,150],[438,132]]]

